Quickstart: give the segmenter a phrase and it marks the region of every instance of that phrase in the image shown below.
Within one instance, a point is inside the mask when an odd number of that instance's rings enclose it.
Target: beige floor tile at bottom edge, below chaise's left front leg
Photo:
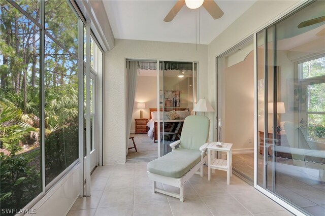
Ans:
[[[172,211],[168,202],[136,203],[134,215],[165,216],[172,215]]]

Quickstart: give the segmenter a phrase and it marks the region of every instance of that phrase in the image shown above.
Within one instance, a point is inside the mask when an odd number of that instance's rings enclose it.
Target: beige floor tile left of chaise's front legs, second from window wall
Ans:
[[[98,205],[102,207],[125,206],[133,203],[134,188],[105,190]]]

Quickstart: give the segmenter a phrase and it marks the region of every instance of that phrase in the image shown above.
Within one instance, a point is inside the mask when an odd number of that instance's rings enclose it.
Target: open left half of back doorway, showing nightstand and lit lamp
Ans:
[[[148,133],[150,109],[157,107],[157,66],[155,62],[141,62],[128,140],[127,161],[151,161],[157,158],[157,143]]]

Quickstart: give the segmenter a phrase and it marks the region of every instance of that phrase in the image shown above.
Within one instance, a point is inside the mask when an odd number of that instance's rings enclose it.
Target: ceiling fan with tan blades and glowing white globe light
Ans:
[[[203,6],[213,19],[219,19],[223,15],[223,11],[213,0],[178,0],[172,10],[167,14],[164,21],[172,21],[185,4],[190,9],[197,9]]]

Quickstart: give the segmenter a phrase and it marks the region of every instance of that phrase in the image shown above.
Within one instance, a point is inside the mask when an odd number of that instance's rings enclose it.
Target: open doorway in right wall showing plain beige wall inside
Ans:
[[[221,141],[233,143],[233,172],[250,184],[254,179],[253,52],[250,37],[217,57]]]

